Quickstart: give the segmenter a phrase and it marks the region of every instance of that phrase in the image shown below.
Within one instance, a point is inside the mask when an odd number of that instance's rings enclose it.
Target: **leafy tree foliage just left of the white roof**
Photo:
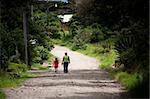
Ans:
[[[33,20],[40,26],[41,32],[46,32],[51,38],[60,38],[61,23],[56,14],[37,10],[33,15]]]

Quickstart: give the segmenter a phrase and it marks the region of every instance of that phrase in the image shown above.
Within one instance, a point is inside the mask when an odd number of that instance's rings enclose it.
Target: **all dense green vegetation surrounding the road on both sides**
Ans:
[[[31,4],[34,5],[33,14]],[[148,97],[148,4],[148,0],[69,0],[68,4],[60,3],[61,10],[56,10],[52,3],[45,6],[29,0],[1,0],[0,73],[4,78],[16,79],[28,69],[25,65],[24,12],[29,68],[41,68],[45,60],[50,62],[53,42],[61,42],[72,50],[97,57],[102,62],[100,67],[112,71],[134,97],[135,94]],[[62,9],[72,9],[74,13],[71,21],[63,24],[67,29],[62,28],[57,17],[60,12],[65,13]],[[112,65],[116,68],[112,69]],[[0,87],[3,84],[0,83]]]

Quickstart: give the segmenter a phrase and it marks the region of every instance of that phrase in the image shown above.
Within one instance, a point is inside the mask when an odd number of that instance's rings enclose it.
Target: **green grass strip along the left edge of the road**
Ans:
[[[48,62],[51,63],[53,56],[49,54]],[[21,86],[27,79],[36,77],[35,74],[27,72],[25,64],[9,63],[9,72],[0,72],[0,99],[6,99],[3,89]],[[49,70],[49,67],[33,64],[31,69]]]

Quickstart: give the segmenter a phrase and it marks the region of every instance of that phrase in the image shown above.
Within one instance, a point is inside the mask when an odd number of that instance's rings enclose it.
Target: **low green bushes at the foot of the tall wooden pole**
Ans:
[[[26,73],[26,70],[27,66],[25,64],[9,63],[7,72],[0,72],[0,88],[16,87],[27,78],[33,77]]]

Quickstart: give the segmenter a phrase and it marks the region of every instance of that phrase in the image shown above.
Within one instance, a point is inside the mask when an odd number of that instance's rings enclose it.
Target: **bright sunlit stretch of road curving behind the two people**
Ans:
[[[85,56],[83,54],[80,54],[75,51],[71,51],[70,49],[66,47],[61,46],[55,46],[55,48],[51,51],[53,55],[59,58],[60,62],[62,61],[62,58],[64,56],[64,53],[67,52],[67,54],[70,56],[71,63],[69,64],[70,70],[93,70],[98,69],[99,62],[92,57]],[[62,66],[60,64],[60,70],[62,70]]]

